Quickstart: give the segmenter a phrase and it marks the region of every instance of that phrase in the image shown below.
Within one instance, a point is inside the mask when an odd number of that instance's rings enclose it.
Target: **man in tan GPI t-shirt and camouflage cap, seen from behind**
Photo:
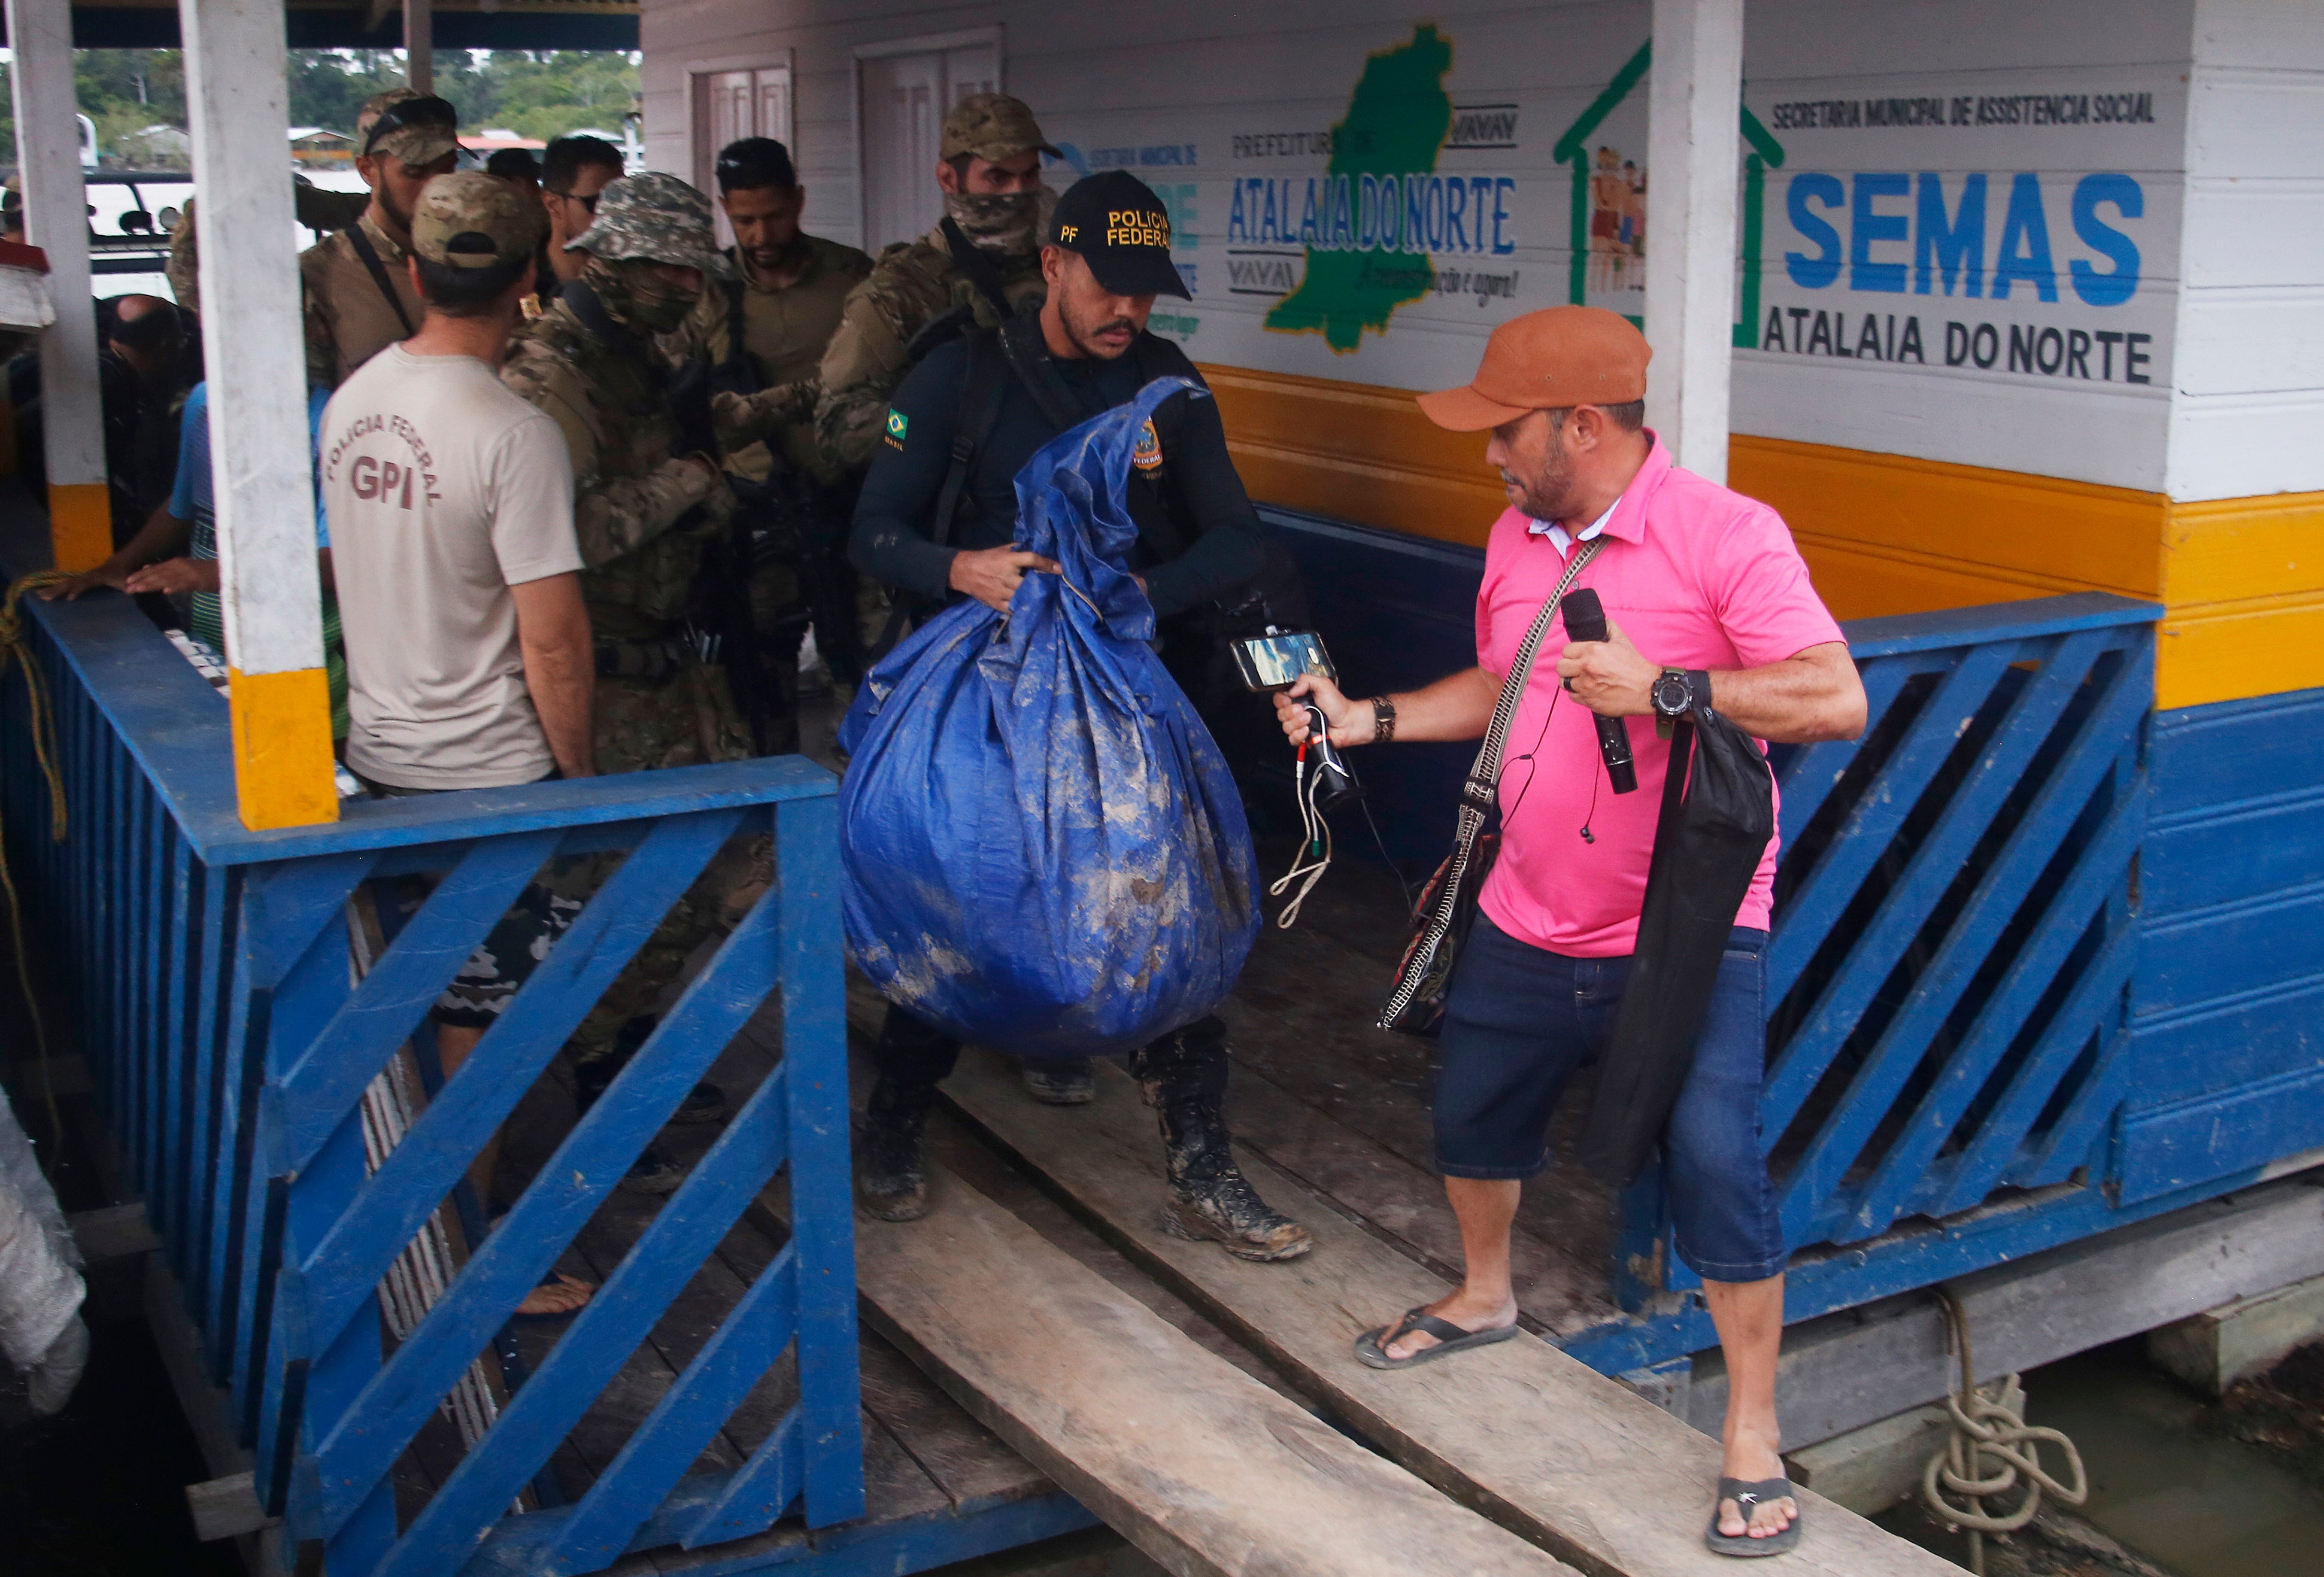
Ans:
[[[381,797],[595,773],[597,669],[565,434],[497,374],[544,228],[539,202],[509,181],[430,181],[404,262],[421,330],[358,367],[323,411],[346,764]],[[558,878],[528,887],[437,999],[446,1078],[581,896]],[[486,1210],[495,1161],[497,1140],[469,1168]],[[586,1298],[560,1277],[521,1312],[572,1312]]]

